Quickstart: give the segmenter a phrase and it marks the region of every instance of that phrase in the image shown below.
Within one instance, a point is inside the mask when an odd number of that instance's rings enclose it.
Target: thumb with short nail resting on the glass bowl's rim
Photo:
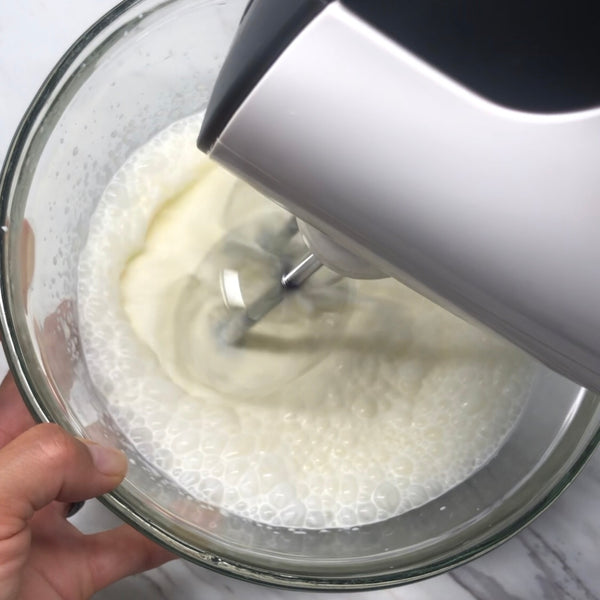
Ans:
[[[119,450],[78,440],[58,425],[28,429],[0,450],[0,539],[53,500],[77,502],[108,492],[126,471]]]

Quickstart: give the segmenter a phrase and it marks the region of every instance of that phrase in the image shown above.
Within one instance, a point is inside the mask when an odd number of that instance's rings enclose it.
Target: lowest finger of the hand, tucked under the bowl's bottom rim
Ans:
[[[129,525],[86,536],[86,552],[94,592],[177,558]]]

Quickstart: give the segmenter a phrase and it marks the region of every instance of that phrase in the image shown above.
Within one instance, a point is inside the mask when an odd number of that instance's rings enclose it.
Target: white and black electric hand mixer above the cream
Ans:
[[[253,0],[199,147],[299,219],[311,268],[395,277],[600,391],[598,23]]]

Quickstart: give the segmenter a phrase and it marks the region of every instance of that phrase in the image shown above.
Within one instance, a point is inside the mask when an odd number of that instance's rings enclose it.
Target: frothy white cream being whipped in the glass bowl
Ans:
[[[195,148],[199,124],[131,157],[81,256],[86,360],[123,430],[190,494],[270,525],[383,520],[469,477],[518,419],[535,363],[394,281],[325,270],[245,347],[220,343],[215,249],[286,217]]]

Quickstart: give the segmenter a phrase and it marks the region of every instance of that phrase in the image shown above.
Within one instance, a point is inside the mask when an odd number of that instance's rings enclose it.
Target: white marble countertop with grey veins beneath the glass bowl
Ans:
[[[70,43],[114,0],[0,0],[0,159],[29,101]],[[5,371],[0,356],[0,371]],[[521,534],[469,565],[424,582],[358,593],[356,600],[600,599],[600,454],[569,490]],[[97,502],[77,515],[84,531],[118,519]],[[130,577],[96,600],[163,598],[286,600],[296,592],[265,589],[176,561]],[[331,598],[305,593],[304,598]]]

